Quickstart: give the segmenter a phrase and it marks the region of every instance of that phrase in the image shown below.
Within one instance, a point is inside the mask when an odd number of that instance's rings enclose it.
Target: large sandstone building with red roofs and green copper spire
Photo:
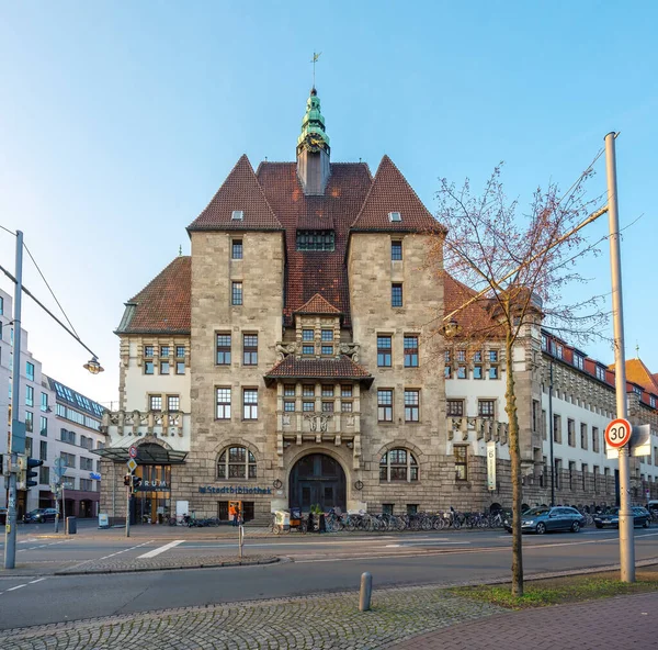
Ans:
[[[492,316],[475,304],[457,314],[456,336],[438,326],[469,295],[427,264],[442,226],[388,157],[374,176],[331,161],[315,89],[296,161],[254,170],[242,156],[188,233],[191,256],[131,299],[116,329],[101,512],[125,517],[133,446],[135,520],[227,518],[229,501],[259,520],[314,505],[509,505],[503,346],[464,337]],[[546,345],[537,309],[513,352],[526,501],[551,498],[551,411],[565,429],[553,453],[559,501],[613,502],[613,461],[593,441],[613,410],[611,376],[601,382],[590,360],[580,368]],[[643,399],[638,422],[655,416]],[[636,464],[636,490],[651,490],[657,472]]]

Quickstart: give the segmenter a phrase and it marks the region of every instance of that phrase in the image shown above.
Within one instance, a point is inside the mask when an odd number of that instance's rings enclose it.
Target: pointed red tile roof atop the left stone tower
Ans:
[[[242,220],[232,218],[235,210],[242,211]],[[188,231],[217,229],[283,229],[245,155],[240,156],[206,209],[188,227]]]

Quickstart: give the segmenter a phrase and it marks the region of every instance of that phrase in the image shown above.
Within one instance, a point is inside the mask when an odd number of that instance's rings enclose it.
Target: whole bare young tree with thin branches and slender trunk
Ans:
[[[593,162],[592,162],[593,165]],[[480,195],[468,180],[457,188],[441,181],[436,217],[447,228],[436,236],[430,264],[450,287],[444,334],[475,349],[497,339],[504,348],[506,413],[512,477],[512,594],[523,595],[521,541],[522,466],[514,381],[513,349],[529,327],[547,327],[560,337],[583,340],[601,332],[606,315],[600,299],[583,298],[567,304],[563,291],[586,279],[578,262],[595,255],[581,227],[605,212],[595,211],[601,199],[586,199],[591,166],[560,197],[551,183],[537,189],[529,209],[509,200],[497,167]],[[589,215],[589,216],[588,216]],[[452,311],[451,311],[452,310]]]

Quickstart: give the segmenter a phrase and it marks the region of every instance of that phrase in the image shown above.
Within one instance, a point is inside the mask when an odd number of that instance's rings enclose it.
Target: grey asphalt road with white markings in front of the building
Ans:
[[[103,575],[54,576],[53,568],[105,557],[137,558],[168,540],[138,538],[37,539],[23,533],[18,562],[43,565],[25,578],[0,574],[0,629],[64,620],[252,598],[356,589],[363,571],[374,586],[451,584],[509,576],[511,538],[501,530],[376,536],[283,536],[248,539],[246,553],[285,558],[279,564]],[[171,533],[180,543],[162,554],[231,553],[230,540]],[[636,559],[658,556],[658,530],[636,530]],[[177,540],[178,541],[178,540]],[[524,536],[526,575],[619,563],[615,530]],[[3,552],[0,545],[0,551]]]

